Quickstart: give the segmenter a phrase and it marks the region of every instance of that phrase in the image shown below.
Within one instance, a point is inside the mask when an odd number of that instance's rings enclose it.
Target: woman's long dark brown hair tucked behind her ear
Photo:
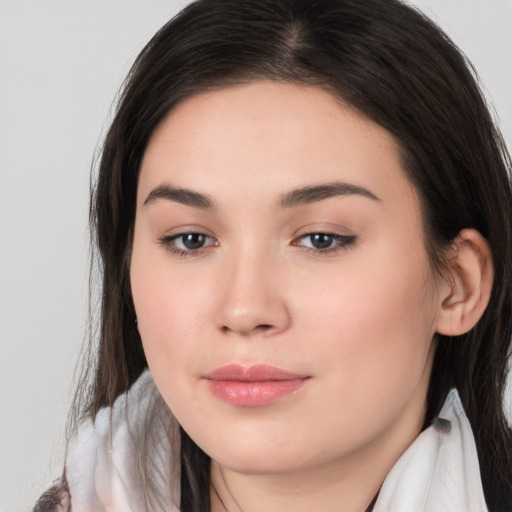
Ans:
[[[470,63],[398,0],[199,0],[144,48],[106,136],[91,202],[103,283],[99,340],[86,359],[77,417],[112,405],[147,367],[128,268],[139,167],[153,131],[184,98],[260,79],[324,87],[394,135],[436,271],[461,229],[487,238],[491,300],[469,333],[437,337],[426,422],[456,386],[489,509],[512,508],[512,436],[502,405],[512,336],[510,157]],[[181,457],[181,510],[209,510],[209,458],[184,432]]]

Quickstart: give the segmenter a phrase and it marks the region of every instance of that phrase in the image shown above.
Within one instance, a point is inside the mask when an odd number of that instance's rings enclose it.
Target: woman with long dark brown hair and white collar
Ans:
[[[191,4],[105,141],[100,341],[36,510],[512,510],[509,170],[410,7]]]

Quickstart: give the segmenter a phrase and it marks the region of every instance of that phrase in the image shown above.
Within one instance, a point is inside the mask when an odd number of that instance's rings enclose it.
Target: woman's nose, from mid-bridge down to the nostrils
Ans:
[[[220,278],[217,326],[242,336],[285,331],[291,318],[282,275],[279,263],[261,252],[233,256]]]

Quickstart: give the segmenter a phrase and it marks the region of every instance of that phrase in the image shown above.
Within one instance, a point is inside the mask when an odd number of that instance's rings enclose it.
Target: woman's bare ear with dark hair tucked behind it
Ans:
[[[463,229],[451,248],[448,275],[441,285],[436,330],[459,336],[472,329],[491,297],[494,279],[492,252],[475,229]]]

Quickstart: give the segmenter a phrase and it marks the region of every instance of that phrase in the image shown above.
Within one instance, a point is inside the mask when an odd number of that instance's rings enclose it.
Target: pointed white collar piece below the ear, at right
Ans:
[[[452,389],[382,484],[374,512],[487,512],[475,440]]]

